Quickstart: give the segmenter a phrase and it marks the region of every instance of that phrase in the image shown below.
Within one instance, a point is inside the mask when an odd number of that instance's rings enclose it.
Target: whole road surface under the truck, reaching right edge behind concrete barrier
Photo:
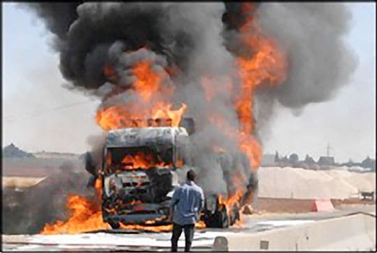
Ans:
[[[239,233],[258,233],[270,229],[297,226],[316,220],[330,219],[357,212],[376,215],[376,206],[354,206],[332,213],[300,213],[249,215],[242,227],[230,229],[202,229],[195,233],[193,251],[211,250],[216,236]],[[375,216],[376,217],[376,216]],[[17,251],[166,251],[170,249],[170,233],[82,233],[77,235],[4,235],[3,250]],[[179,240],[184,247],[184,236]]]

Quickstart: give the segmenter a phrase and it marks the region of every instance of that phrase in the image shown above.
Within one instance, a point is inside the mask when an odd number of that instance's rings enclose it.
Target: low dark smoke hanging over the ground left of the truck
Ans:
[[[4,187],[2,229],[4,234],[40,233],[45,224],[66,220],[70,213],[66,208],[69,194],[80,194],[95,201],[93,190],[86,187],[85,172],[59,171],[38,183],[23,188]]]

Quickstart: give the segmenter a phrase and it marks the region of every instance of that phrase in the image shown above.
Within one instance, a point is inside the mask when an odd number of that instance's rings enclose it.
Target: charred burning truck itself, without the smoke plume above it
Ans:
[[[199,171],[190,143],[194,122],[182,118],[173,127],[170,118],[150,118],[144,128],[110,130],[102,150],[99,174],[90,182],[101,178],[102,217],[112,229],[120,224],[163,225],[170,224],[171,199],[175,187],[186,179],[186,171]],[[225,181],[232,178],[227,173],[235,155],[216,152]],[[232,159],[230,159],[232,158]],[[246,155],[238,159],[249,166]],[[87,170],[96,171],[93,158],[87,153]],[[220,192],[205,192],[205,208],[200,220],[206,227],[226,228],[239,220],[239,210],[256,190],[258,180],[251,174],[248,190],[234,203],[226,203]]]

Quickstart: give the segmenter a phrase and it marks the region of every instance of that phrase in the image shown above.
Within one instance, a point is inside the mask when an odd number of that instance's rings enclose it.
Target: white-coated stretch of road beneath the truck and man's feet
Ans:
[[[211,250],[216,236],[265,231],[276,227],[293,226],[308,220],[253,221],[247,219],[244,227],[230,229],[201,229],[195,232],[193,250]],[[184,247],[182,234],[179,247]],[[3,236],[3,250],[133,250],[158,251],[170,249],[170,233],[82,233],[77,235],[8,235]]]

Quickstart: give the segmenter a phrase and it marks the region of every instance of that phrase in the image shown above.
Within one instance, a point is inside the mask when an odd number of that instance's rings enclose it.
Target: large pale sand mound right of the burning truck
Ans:
[[[258,171],[258,197],[293,199],[348,199],[359,190],[374,191],[375,173],[341,169],[313,171],[300,168],[262,167]]]

